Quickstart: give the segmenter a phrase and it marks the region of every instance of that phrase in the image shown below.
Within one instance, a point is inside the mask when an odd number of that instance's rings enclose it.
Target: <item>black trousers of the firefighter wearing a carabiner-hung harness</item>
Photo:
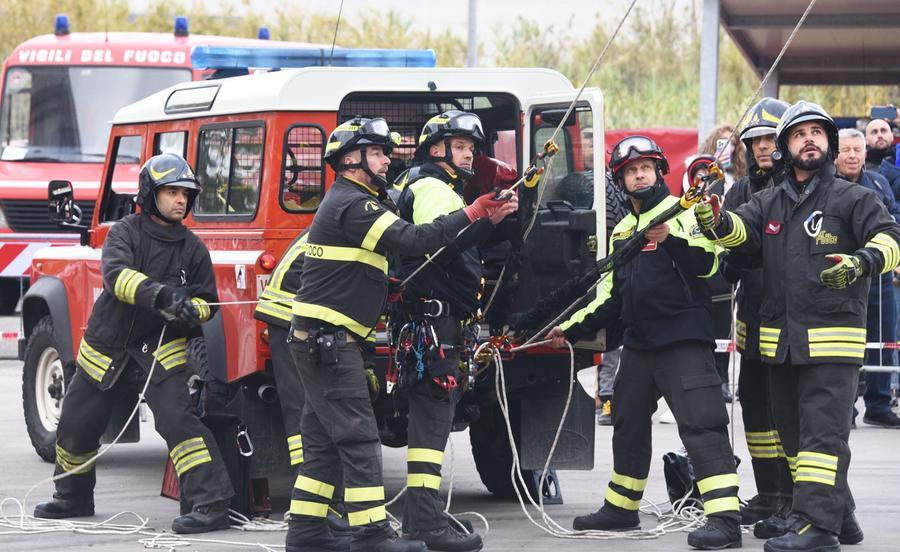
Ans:
[[[446,527],[444,503],[440,497],[441,463],[456,403],[461,389],[450,392],[438,387],[430,377],[452,375],[462,385],[459,369],[459,347],[462,346],[462,324],[452,317],[438,318],[434,330],[444,346],[445,358],[428,367],[428,377],[409,388],[409,449],[406,453],[407,490],[403,516],[404,528],[412,533]]]

